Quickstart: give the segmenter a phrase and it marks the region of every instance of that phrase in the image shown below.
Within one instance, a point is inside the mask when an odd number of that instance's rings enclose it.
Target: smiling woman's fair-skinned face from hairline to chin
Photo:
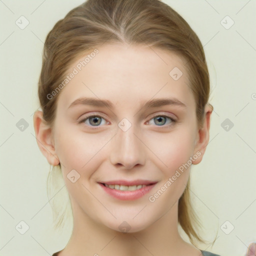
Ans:
[[[177,209],[202,157],[188,75],[178,56],[147,46],[87,54],[58,92],[52,134],[73,215],[139,231]]]

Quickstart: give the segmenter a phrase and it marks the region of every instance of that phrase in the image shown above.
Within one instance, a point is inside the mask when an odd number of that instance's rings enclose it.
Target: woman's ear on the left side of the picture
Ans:
[[[37,110],[33,115],[34,131],[37,145],[51,165],[58,165],[59,159],[55,153],[52,139],[52,128],[46,124],[42,111]]]

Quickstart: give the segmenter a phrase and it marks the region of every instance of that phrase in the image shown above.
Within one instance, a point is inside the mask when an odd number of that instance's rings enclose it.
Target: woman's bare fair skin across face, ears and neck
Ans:
[[[58,92],[53,127],[43,122],[41,111],[34,114],[38,146],[50,164],[60,162],[72,206],[73,231],[59,255],[199,256],[199,249],[186,243],[177,230],[178,199],[190,166],[171,185],[166,182],[191,157],[192,164],[201,161],[212,110],[205,106],[203,126],[198,128],[188,74],[177,55],[120,44],[98,50]],[[83,59],[74,61],[68,73]],[[177,80],[169,75],[175,66],[183,73]],[[80,97],[107,99],[113,108],[69,107]],[[176,98],[185,106],[142,107],[156,98]],[[97,125],[93,125],[93,117],[77,123],[89,114],[101,117]],[[166,119],[154,118],[162,115]],[[126,131],[118,127],[123,118],[131,124]],[[74,183],[67,177],[72,169],[80,175]],[[156,184],[140,198],[120,200],[98,183],[117,179],[147,179]],[[162,186],[165,190],[156,198],[154,194]],[[123,221],[129,226],[125,233],[119,227]]]

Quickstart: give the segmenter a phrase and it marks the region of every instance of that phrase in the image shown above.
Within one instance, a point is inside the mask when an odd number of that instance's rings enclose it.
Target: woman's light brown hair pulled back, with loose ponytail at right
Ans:
[[[55,118],[59,93],[51,99],[47,95],[63,81],[72,61],[103,43],[147,44],[185,60],[187,85],[195,98],[197,124],[201,126],[210,91],[203,47],[188,23],[159,0],[87,0],[54,25],[44,43],[38,83],[43,117],[49,125]],[[62,217],[59,219],[61,222]],[[189,179],[178,201],[178,222],[192,243],[194,239],[202,241],[190,204]]]

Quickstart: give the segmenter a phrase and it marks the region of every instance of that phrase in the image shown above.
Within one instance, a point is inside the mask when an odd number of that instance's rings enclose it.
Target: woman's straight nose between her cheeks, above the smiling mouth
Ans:
[[[126,131],[117,127],[117,133],[111,140],[110,162],[125,169],[144,165],[146,152],[142,141],[135,125],[131,125]]]

